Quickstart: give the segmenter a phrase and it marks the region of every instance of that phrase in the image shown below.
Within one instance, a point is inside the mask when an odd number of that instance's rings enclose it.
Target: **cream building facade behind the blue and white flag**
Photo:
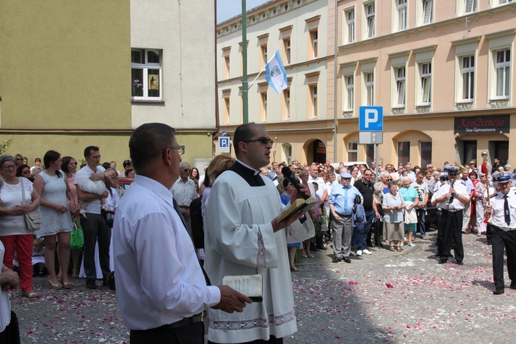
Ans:
[[[327,0],[270,1],[247,13],[248,118],[264,125],[275,140],[273,160],[324,160],[332,150],[327,14]],[[277,51],[288,76],[281,94],[268,87],[263,71]],[[219,120],[229,136],[242,123],[241,79],[239,16],[217,25]]]

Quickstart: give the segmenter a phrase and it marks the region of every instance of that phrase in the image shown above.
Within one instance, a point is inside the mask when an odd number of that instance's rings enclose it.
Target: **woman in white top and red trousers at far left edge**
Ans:
[[[5,247],[3,264],[12,270],[14,248],[20,268],[20,286],[23,297],[34,299],[39,294],[32,290],[32,231],[25,225],[23,215],[38,208],[41,198],[27,178],[17,178],[16,160],[11,155],[0,157],[3,176],[0,205],[0,241]],[[23,188],[23,193],[22,193]],[[25,194],[25,204],[23,204]]]

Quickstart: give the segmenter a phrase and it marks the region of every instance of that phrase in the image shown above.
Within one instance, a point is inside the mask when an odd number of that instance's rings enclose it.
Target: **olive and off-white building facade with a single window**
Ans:
[[[2,1],[0,141],[30,164],[50,149],[80,160],[89,145],[121,164],[134,128],[165,122],[184,159],[211,158],[214,19],[214,1]]]

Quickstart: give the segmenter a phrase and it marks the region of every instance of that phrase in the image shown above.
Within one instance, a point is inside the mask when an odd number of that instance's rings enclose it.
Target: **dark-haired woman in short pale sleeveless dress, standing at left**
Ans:
[[[38,237],[45,239],[45,265],[48,269],[48,283],[52,289],[72,288],[68,279],[68,263],[70,260],[70,232],[72,217],[68,209],[68,201],[72,211],[78,205],[70,191],[65,174],[61,171],[61,154],[47,151],[43,157],[45,169],[34,178],[34,189],[41,195],[41,228],[36,230]],[[56,240],[57,239],[57,240]],[[61,268],[61,283],[56,276],[54,264],[56,241],[58,241],[58,257]]]

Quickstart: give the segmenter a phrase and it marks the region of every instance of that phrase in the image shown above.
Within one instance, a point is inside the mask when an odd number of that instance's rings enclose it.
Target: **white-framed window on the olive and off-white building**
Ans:
[[[140,52],[143,54],[143,63],[133,62],[132,53]],[[160,62],[159,63],[151,63],[149,62],[149,52],[158,52]],[[134,69],[142,69],[142,83],[137,83],[136,76],[133,74]],[[149,69],[158,69],[158,91],[159,96],[149,96]],[[144,87],[147,85],[147,87]],[[134,89],[138,89],[138,87],[142,87],[142,96],[133,95]],[[162,101],[163,100],[163,50],[161,49],[147,49],[147,48],[131,48],[131,100],[143,100],[143,101]]]

